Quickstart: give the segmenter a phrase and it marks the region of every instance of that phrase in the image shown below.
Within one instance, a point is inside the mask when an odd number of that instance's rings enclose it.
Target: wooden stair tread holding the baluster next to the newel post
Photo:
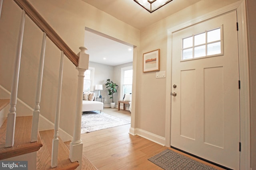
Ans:
[[[41,141],[43,147],[37,152],[37,169],[56,169],[56,170],[74,170],[79,164],[78,162],[71,162],[69,159],[69,150],[64,142],[59,139],[58,147],[58,166],[51,168],[51,155],[52,155],[52,139],[54,136],[54,130],[40,131]]]

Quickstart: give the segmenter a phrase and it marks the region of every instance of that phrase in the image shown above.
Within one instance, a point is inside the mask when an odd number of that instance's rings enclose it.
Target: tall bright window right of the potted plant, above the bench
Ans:
[[[121,68],[120,99],[132,93],[132,66]]]

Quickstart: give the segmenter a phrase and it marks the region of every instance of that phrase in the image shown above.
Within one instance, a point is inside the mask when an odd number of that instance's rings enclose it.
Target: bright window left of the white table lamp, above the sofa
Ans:
[[[89,69],[84,72],[84,92],[93,91],[94,70],[94,67],[89,67]]]

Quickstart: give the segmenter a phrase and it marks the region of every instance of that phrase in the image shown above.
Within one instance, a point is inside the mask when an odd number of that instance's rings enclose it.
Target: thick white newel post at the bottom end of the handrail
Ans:
[[[82,168],[82,153],[83,143],[81,140],[81,121],[82,121],[82,100],[84,88],[84,72],[88,70],[89,55],[86,54],[86,47],[79,47],[81,50],[78,53],[79,61],[76,69],[78,70],[78,87],[76,95],[76,115],[74,123],[74,134],[72,142],[70,143],[69,158],[71,162],[78,161],[79,166],[77,170]]]

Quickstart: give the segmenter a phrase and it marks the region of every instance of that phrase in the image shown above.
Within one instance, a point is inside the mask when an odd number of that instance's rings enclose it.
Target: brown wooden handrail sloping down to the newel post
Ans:
[[[44,18],[35,10],[35,8],[27,0],[14,0],[22,10],[26,12],[28,17],[43,31],[47,37],[61,50],[64,55],[75,65],[78,66],[79,57],[70,47],[60,38],[60,36],[52,29],[52,27],[44,20]]]

